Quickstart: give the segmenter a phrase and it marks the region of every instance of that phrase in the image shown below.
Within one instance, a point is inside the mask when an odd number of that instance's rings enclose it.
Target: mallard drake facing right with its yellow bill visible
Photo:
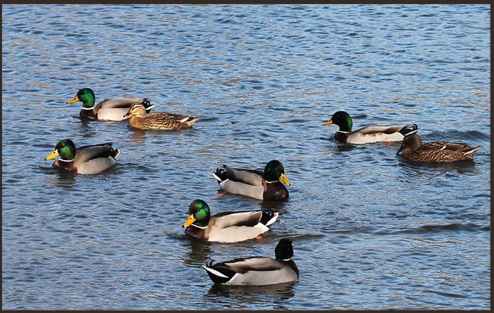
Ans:
[[[291,185],[285,176],[285,168],[277,160],[268,162],[264,171],[233,168],[223,164],[213,172],[213,176],[221,190],[260,200],[287,199],[288,190],[283,184]]]

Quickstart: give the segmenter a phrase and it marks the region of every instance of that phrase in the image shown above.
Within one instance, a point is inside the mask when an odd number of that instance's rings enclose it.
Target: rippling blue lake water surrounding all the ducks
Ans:
[[[490,6],[2,5],[2,44],[3,309],[490,308]],[[82,87],[202,118],[81,121],[66,101]],[[336,142],[321,124],[337,110],[483,148],[410,163],[399,143]],[[44,157],[63,138],[120,158],[57,171]],[[214,196],[217,166],[272,159],[286,202]],[[196,241],[196,198],[280,216],[262,242]],[[274,257],[283,237],[294,284],[213,286],[201,269]]]

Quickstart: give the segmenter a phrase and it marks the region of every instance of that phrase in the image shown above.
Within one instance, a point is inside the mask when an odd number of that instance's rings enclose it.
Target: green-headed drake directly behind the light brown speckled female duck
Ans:
[[[106,121],[124,120],[124,114],[128,112],[130,106],[134,103],[142,103],[148,113],[154,106],[146,98],[111,98],[101,101],[96,106],[95,100],[96,97],[91,88],[82,88],[77,92],[74,99],[67,101],[67,104],[81,101],[82,109],[79,113],[81,118]]]

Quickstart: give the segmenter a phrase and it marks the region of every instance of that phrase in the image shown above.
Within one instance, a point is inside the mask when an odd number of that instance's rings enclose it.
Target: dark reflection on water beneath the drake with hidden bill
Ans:
[[[227,286],[214,284],[208,291],[208,296],[221,296],[234,298],[245,303],[259,303],[263,301],[262,296],[276,296],[280,299],[289,299],[295,295],[293,291],[295,283],[282,283],[267,286]],[[212,297],[213,299],[216,299]]]

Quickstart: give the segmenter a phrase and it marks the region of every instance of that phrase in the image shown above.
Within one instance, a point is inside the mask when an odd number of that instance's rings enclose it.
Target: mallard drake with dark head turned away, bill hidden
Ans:
[[[244,257],[214,265],[213,260],[209,260],[203,268],[216,284],[261,286],[296,281],[300,273],[291,259],[294,248],[290,239],[283,238],[278,242],[275,256],[276,259]]]

